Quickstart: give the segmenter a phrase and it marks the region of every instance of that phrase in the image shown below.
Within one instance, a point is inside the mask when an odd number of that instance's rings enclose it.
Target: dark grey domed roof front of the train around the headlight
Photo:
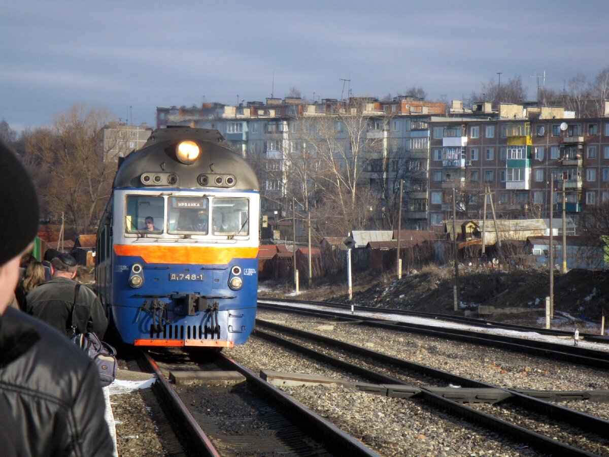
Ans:
[[[197,160],[186,165],[175,155],[180,141],[191,140],[200,147]],[[142,176],[158,175],[161,185],[152,181],[146,185]],[[205,178],[202,179],[202,176]],[[216,185],[217,177],[234,177],[234,185]],[[191,127],[167,127],[152,132],[141,149],[133,151],[120,163],[113,186],[116,187],[171,187],[181,189],[259,190],[258,179],[252,167],[241,155],[233,152],[217,130]]]

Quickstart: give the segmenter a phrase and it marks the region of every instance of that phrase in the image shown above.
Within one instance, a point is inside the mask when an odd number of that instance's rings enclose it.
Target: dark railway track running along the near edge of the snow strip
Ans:
[[[277,300],[259,300],[258,306],[262,309],[281,311],[286,313],[305,314],[308,316],[331,318],[337,321],[356,322],[361,325],[371,327],[385,328],[395,331],[404,331],[409,333],[420,333],[422,335],[437,336],[443,339],[452,339],[456,341],[470,342],[478,345],[486,345],[491,347],[501,347],[501,349],[509,349],[515,352],[526,353],[528,355],[543,356],[553,358],[554,360],[567,361],[572,364],[586,365],[596,368],[609,369],[609,351],[586,349],[585,347],[558,344],[546,341],[533,341],[526,338],[518,338],[514,336],[496,335],[493,333],[484,333],[484,331],[471,331],[462,328],[443,328],[438,325],[415,324],[410,322],[390,321],[378,317],[378,310],[375,311],[360,311],[358,308],[357,314],[350,314],[350,307],[341,310],[322,309],[326,306],[325,303],[315,305],[315,308],[305,308],[301,306],[301,302],[291,303],[295,305],[274,303]],[[308,303],[308,302],[307,302]],[[333,308],[333,306],[330,306]],[[371,316],[376,314],[376,316]],[[385,314],[390,313],[385,310]],[[489,328],[488,326],[485,328]],[[529,330],[532,328],[529,327]]]

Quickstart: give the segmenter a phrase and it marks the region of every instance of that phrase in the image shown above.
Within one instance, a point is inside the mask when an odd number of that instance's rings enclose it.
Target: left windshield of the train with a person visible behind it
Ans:
[[[163,197],[128,195],[125,208],[125,232],[163,232],[165,204]]]

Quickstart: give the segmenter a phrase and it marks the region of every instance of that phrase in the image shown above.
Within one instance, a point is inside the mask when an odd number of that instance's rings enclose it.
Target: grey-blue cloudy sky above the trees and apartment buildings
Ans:
[[[283,97],[461,99],[521,76],[562,89],[609,66],[609,2],[0,0],[0,119],[75,102],[155,125],[157,106]],[[345,86],[343,96],[347,96]]]

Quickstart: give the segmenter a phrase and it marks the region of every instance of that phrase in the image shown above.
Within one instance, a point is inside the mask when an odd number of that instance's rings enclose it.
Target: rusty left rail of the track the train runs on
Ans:
[[[149,367],[154,371],[161,391],[174,406],[175,413],[180,416],[181,423],[183,423],[186,430],[188,430],[189,438],[192,440],[189,444],[197,450],[199,455],[220,457],[220,453],[216,450],[216,447],[211,443],[208,436],[205,434],[205,431],[203,431],[184,402],[182,402],[177,392],[172,388],[169,380],[163,375],[157,363],[150,357],[149,353],[144,352],[143,355],[144,359],[149,364]]]

